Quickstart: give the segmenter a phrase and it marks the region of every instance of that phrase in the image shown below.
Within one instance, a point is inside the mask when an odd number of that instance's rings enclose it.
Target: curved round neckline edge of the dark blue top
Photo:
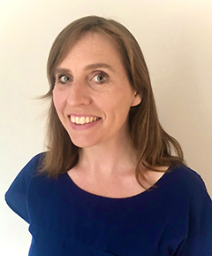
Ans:
[[[84,196],[90,197],[90,198],[96,198],[96,199],[99,198],[99,199],[110,200],[110,201],[124,201],[124,200],[130,200],[130,199],[144,197],[144,196],[146,196],[146,194],[149,195],[149,194],[151,194],[152,191],[155,191],[156,189],[158,189],[159,185],[163,182],[163,180],[166,178],[166,176],[168,174],[170,174],[170,168],[154,183],[153,186],[151,186],[148,190],[144,190],[144,191],[140,192],[139,194],[136,194],[136,195],[133,195],[130,197],[126,197],[126,198],[110,198],[110,197],[97,195],[97,194],[91,193],[87,190],[81,189],[75,182],[73,182],[72,178],[70,177],[70,175],[68,175],[67,172],[64,173],[66,179],[68,180],[68,182],[70,182],[72,184],[72,188],[75,191],[79,192],[80,194],[83,194]]]

